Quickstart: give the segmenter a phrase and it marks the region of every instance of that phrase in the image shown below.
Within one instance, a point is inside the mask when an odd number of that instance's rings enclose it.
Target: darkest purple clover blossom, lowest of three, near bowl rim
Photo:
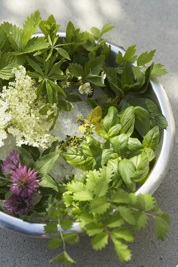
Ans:
[[[23,199],[20,196],[12,195],[7,199],[5,207],[14,214],[27,214],[33,209],[33,204],[32,199]]]

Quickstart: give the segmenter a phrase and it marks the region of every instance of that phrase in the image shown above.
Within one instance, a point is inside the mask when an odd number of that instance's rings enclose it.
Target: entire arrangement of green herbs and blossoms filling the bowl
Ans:
[[[32,37],[38,26],[44,37]],[[125,242],[132,242],[149,218],[155,219],[157,239],[164,241],[168,230],[172,233],[169,214],[155,198],[135,195],[136,186],[149,177],[159,130],[167,127],[167,120],[150,99],[124,99],[145,92],[150,78],[167,71],[160,63],[145,66],[156,50],[136,61],[136,45],[124,55],[118,52],[116,68],[108,66],[111,46],[101,37],[114,28],[111,23],[101,30],[92,27],[93,36],[69,21],[63,39],[60,26],[53,15],[42,20],[38,10],[27,17],[23,29],[8,22],[0,26],[0,147],[7,134],[15,136],[18,145],[1,160],[1,209],[27,221],[49,220],[45,232],[56,238],[48,248],[63,246],[50,262],[76,265],[65,244],[76,244],[79,237],[63,231],[72,228],[73,220],[92,236],[93,249],[101,250],[111,238],[120,261],[128,261],[131,252]],[[105,95],[93,99],[98,86]],[[78,94],[73,93],[76,87]],[[81,94],[93,109],[86,118],[76,118],[84,136],[53,137],[49,132],[60,111],[72,111],[72,103],[84,99]],[[59,156],[83,175],[57,182],[50,170]]]

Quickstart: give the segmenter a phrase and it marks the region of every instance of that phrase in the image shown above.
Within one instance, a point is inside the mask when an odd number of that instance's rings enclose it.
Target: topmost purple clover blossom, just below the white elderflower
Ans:
[[[16,168],[21,167],[18,151],[13,149],[10,155],[5,160],[3,160],[3,165],[1,164],[1,167],[4,175],[7,172],[13,174]]]

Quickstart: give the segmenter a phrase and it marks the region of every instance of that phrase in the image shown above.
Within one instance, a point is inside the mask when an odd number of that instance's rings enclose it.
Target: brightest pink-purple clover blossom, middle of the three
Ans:
[[[34,169],[31,170],[29,168],[27,170],[26,165],[17,168],[10,176],[13,182],[10,186],[10,191],[22,198],[31,197],[36,192],[36,188],[39,187],[38,183],[41,181],[36,180],[38,178],[37,174],[38,172],[34,172]]]

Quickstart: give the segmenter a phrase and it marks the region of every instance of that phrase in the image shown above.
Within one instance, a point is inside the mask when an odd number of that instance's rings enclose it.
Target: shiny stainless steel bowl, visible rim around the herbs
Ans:
[[[65,32],[58,32],[60,37],[65,38]],[[43,36],[42,33],[36,33],[34,36]],[[107,45],[111,45],[111,53],[107,59],[110,66],[116,66],[115,58],[120,51],[123,55],[125,54],[125,49],[121,46],[113,44],[112,42],[107,42]],[[173,155],[173,150],[175,146],[175,123],[172,114],[171,105],[169,103],[168,97],[164,91],[163,86],[160,84],[157,78],[153,78],[149,81],[149,87],[145,93],[141,95],[142,97],[148,97],[149,99],[155,101],[158,105],[162,114],[166,117],[168,121],[168,127],[160,132],[160,142],[155,150],[156,162],[151,171],[151,174],[147,181],[140,186],[136,191],[138,194],[153,194],[160,183],[162,182],[166,172],[168,171],[169,165],[171,163],[171,158]],[[132,95],[133,97],[133,95]],[[138,97],[138,95],[136,95]],[[13,216],[7,215],[0,211],[0,226],[8,230],[15,231],[17,233],[26,234],[34,237],[42,238],[52,238],[56,234],[46,234],[44,232],[44,223],[31,223],[25,222],[21,219],[15,218]],[[67,233],[78,233],[82,234],[79,223],[74,222],[73,227],[70,230],[62,230],[63,234]]]

